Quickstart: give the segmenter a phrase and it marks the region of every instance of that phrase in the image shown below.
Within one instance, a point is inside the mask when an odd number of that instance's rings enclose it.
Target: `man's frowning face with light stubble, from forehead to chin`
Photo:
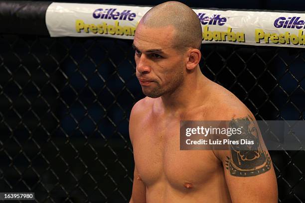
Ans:
[[[183,53],[173,47],[173,26],[151,28],[139,24],[134,39],[136,76],[144,95],[157,98],[183,83]]]

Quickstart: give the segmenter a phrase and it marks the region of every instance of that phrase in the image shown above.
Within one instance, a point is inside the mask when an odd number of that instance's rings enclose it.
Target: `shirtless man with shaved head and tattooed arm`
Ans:
[[[130,116],[130,203],[275,203],[277,183],[265,146],[251,160],[233,149],[179,150],[180,120],[255,125],[241,101],[202,75],[201,40],[196,13],[176,1],[153,7],[137,27],[136,75],[147,97]],[[243,158],[236,160],[234,153]]]

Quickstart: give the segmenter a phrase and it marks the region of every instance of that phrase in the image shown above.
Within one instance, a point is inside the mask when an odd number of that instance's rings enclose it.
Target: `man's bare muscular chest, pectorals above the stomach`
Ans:
[[[187,183],[196,187],[219,169],[212,151],[180,150],[179,126],[179,120],[144,120],[136,130],[134,157],[147,187],[161,182],[176,189]]]

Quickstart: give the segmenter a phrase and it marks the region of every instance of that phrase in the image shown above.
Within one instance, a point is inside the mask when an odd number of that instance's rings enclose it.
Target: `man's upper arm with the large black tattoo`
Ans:
[[[241,136],[254,140],[257,148],[245,150],[245,145],[230,145],[229,150],[217,152],[232,202],[277,203],[277,182],[272,161],[255,118],[250,114],[240,115],[232,118],[229,127],[242,127]],[[229,139],[234,140],[234,137]]]

